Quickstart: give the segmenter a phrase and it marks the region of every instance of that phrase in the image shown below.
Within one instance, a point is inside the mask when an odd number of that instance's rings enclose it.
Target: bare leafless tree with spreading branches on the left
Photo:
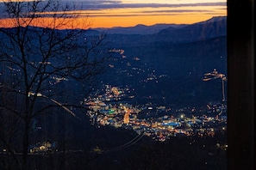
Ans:
[[[90,22],[86,18],[77,22],[73,6],[61,4],[4,1],[9,18],[4,24],[13,27],[0,28],[0,142],[22,169],[28,168],[33,119],[53,107],[76,117],[72,107],[83,107],[86,90],[109,57],[105,36],[75,29]],[[38,24],[44,27],[34,27]],[[64,27],[71,29],[59,30]],[[16,134],[21,133],[18,143]],[[19,149],[22,161],[16,157]]]

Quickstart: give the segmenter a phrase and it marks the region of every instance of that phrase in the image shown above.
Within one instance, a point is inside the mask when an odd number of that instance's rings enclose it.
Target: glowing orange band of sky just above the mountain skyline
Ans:
[[[146,1],[122,2],[122,6],[114,6],[112,3],[113,6],[109,3],[109,6],[104,6],[106,5],[104,3],[99,5],[101,8],[98,9],[97,6],[89,6],[88,9],[66,11],[68,18],[65,19],[65,24],[61,23],[63,19],[54,22],[53,18],[49,18],[48,15],[51,12],[42,13],[42,16],[47,15],[47,17],[36,18],[29,23],[29,26],[85,29],[88,27],[133,27],[138,24],[150,26],[158,23],[191,24],[208,20],[213,16],[227,15],[226,3],[213,3],[212,0],[209,0],[209,3],[200,3],[196,0],[193,1],[195,3],[181,1],[180,4],[173,5],[164,0],[152,4],[145,3]],[[76,17],[71,17],[73,15]],[[25,20],[22,21],[22,26],[26,26],[29,21],[29,19]],[[2,18],[0,27],[16,27],[16,21],[6,17]]]

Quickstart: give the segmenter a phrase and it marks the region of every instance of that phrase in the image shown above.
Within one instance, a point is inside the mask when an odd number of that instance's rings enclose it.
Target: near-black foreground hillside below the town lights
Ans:
[[[208,169],[224,170],[226,134],[215,137],[172,137],[165,143],[142,137],[134,143],[134,131],[95,127],[58,112],[58,123],[42,137],[55,138],[58,149],[28,155],[28,169]],[[48,117],[50,118],[50,117]],[[56,121],[56,120],[55,120]],[[64,121],[64,122],[62,122]],[[63,124],[65,123],[65,124]],[[84,124],[85,123],[85,124]],[[44,128],[44,127],[43,127]],[[132,143],[132,144],[131,144]],[[0,155],[1,169],[18,169],[11,155]],[[19,160],[19,155],[16,157]]]

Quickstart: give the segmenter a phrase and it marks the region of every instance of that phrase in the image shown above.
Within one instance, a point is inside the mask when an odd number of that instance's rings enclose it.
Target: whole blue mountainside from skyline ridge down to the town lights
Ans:
[[[165,102],[183,106],[222,100],[221,80],[207,83],[202,79],[213,69],[227,73],[226,21],[226,17],[214,17],[151,35],[108,34],[111,46],[123,49],[125,58],[116,56],[111,61],[114,68],[105,82],[133,86],[142,102],[148,95],[155,102],[165,96]],[[148,77],[152,74],[160,78],[143,82],[152,79]]]

